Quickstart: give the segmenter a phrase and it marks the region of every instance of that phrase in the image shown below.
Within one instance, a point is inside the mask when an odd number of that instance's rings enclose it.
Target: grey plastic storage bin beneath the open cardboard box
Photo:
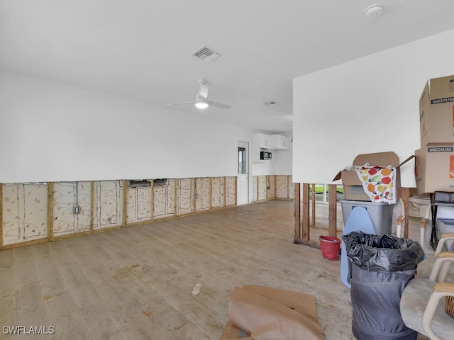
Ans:
[[[347,223],[350,212],[356,207],[362,207],[367,210],[374,225],[375,234],[384,235],[392,233],[392,211],[394,204],[384,202],[366,202],[362,200],[340,200],[343,224]]]

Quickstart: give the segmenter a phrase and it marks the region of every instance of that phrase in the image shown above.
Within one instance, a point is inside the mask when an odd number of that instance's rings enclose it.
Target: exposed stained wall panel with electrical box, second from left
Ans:
[[[91,229],[91,182],[53,183],[52,196],[52,237]]]

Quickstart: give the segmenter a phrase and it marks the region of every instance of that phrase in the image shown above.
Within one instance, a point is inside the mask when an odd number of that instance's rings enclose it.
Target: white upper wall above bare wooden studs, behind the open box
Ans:
[[[414,154],[419,97],[427,79],[454,74],[453,40],[450,30],[294,79],[294,182],[332,183],[357,154]],[[402,186],[415,186],[413,161]]]

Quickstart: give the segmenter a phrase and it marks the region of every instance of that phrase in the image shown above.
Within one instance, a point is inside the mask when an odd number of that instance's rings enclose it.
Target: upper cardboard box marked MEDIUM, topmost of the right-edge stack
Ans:
[[[454,139],[454,75],[429,79],[419,100],[421,147]]]

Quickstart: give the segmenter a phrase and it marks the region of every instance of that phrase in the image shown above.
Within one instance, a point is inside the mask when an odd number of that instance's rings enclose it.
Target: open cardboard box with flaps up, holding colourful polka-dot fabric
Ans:
[[[396,168],[396,200],[400,198],[401,186],[400,186],[400,167],[406,162],[409,162],[414,156],[410,156],[399,163],[399,157],[394,152],[376,152],[373,154],[358,154],[353,159],[354,166],[363,166],[369,163],[370,166],[393,166]],[[369,196],[364,192],[362,183],[358,179],[358,175],[352,170],[342,170],[334,177],[333,181],[342,179],[343,185],[343,196],[345,200],[365,200],[370,202]]]

